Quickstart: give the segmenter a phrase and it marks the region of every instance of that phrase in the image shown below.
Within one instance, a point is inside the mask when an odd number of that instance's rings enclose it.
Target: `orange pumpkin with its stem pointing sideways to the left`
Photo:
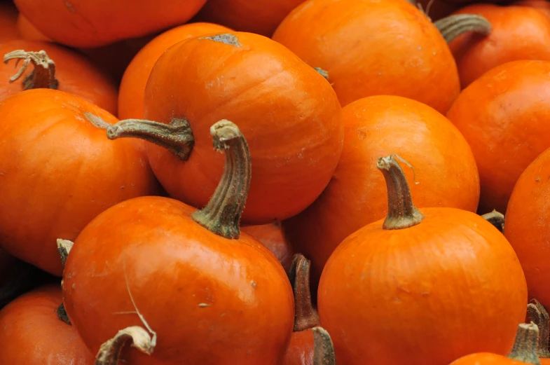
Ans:
[[[209,125],[222,118],[239,125],[254,169],[242,214],[249,225],[308,207],[329,184],[343,146],[341,106],[329,83],[256,34],[200,36],[168,48],[147,81],[144,110],[147,120],[122,120],[107,136],[153,142],[146,148],[156,177],[193,207],[206,205],[223,170],[207,144]]]

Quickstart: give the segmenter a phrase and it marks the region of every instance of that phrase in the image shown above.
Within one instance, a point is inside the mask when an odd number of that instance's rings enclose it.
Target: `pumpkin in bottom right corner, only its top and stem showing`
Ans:
[[[520,324],[514,343],[514,349],[504,357],[501,354],[490,352],[481,352],[478,354],[469,354],[451,365],[540,365],[537,357],[537,342],[539,338],[539,329],[536,324]]]

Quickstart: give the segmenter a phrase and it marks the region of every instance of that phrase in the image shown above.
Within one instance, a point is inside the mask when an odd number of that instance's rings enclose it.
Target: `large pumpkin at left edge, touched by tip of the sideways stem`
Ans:
[[[108,207],[156,192],[142,144],[109,141],[117,119],[80,97],[17,92],[0,115],[0,247],[13,256],[61,275],[57,238],[74,240]]]

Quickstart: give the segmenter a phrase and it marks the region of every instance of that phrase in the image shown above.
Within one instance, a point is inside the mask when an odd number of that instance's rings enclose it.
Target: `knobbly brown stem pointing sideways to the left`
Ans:
[[[174,118],[170,124],[152,120],[125,119],[106,128],[109,139],[132,137],[164,147],[182,161],[188,160],[195,137],[187,119]]]

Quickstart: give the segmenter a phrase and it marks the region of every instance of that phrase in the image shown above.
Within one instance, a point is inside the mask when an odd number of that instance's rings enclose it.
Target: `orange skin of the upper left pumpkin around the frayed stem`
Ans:
[[[95,67],[82,55],[72,50],[40,41],[15,40],[0,44],[0,55],[4,56],[13,50],[27,52],[45,50],[55,62],[55,77],[59,81],[58,90],[78,95],[97,106],[116,114],[117,91],[114,83],[104,72]],[[17,81],[9,83],[18,68],[15,60],[0,64],[0,100],[23,90],[22,78],[32,71],[33,66]]]

